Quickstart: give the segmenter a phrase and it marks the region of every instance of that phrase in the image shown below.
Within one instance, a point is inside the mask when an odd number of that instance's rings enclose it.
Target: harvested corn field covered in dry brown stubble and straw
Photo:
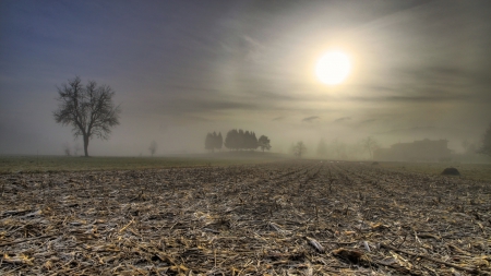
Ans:
[[[491,183],[357,163],[0,176],[2,275],[491,274]]]

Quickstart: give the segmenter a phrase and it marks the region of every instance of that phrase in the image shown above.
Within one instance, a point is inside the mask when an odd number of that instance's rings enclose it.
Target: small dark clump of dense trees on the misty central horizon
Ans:
[[[227,132],[225,141],[221,137],[221,132],[219,132],[218,135],[216,132],[206,135],[205,149],[214,152],[215,149],[221,149],[221,145],[225,145],[225,147],[231,151],[254,151],[260,147],[264,152],[264,149],[270,151],[271,141],[265,135],[261,135],[260,139],[258,139],[253,131],[237,129]]]

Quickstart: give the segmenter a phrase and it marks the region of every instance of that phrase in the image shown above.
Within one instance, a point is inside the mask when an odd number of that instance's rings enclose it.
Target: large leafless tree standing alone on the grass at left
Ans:
[[[79,76],[58,88],[59,108],[55,121],[71,125],[75,137],[82,136],[84,153],[88,157],[88,142],[93,136],[108,140],[111,128],[119,124],[119,106],[112,103],[115,92],[108,85],[97,86],[89,81],[83,86]]]

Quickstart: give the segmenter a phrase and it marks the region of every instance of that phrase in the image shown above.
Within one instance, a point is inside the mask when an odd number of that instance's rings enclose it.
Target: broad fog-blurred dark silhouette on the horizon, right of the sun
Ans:
[[[412,143],[397,143],[391,148],[378,148],[373,159],[383,161],[444,161],[450,160],[448,141],[428,139]]]

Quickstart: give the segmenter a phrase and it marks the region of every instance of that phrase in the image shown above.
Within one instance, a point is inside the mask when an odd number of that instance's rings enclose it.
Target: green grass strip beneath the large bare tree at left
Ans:
[[[170,157],[71,157],[71,156],[0,156],[0,173],[140,170],[172,167],[204,167],[260,164],[284,159],[270,153],[216,153]]]

